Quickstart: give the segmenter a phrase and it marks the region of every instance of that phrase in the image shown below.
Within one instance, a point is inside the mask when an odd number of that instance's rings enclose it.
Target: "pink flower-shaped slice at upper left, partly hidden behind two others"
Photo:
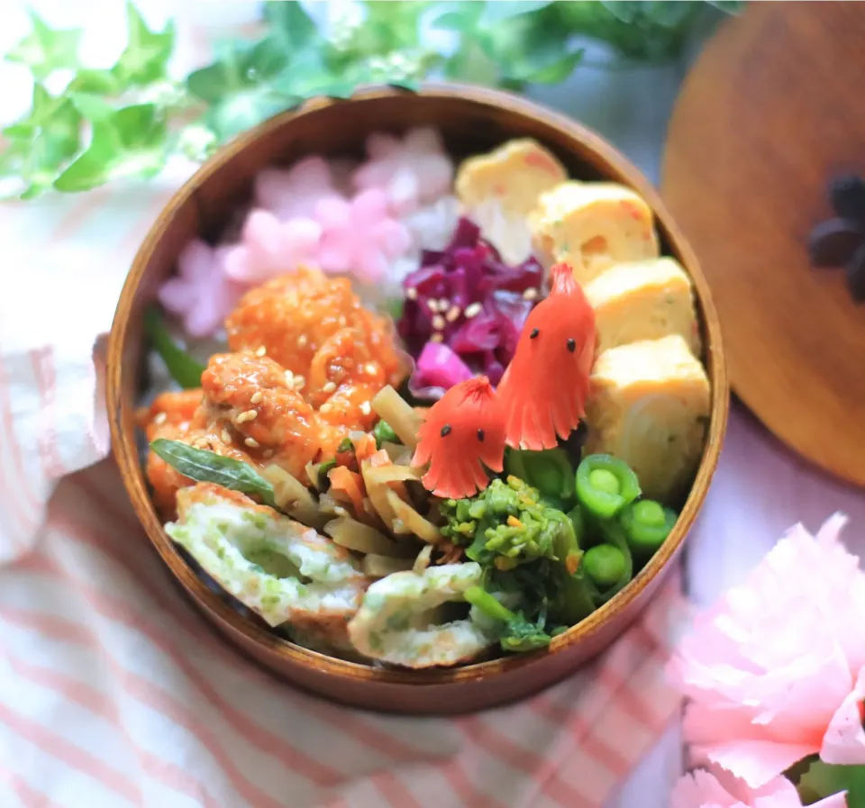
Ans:
[[[264,168],[255,178],[255,202],[283,222],[308,218],[319,201],[340,196],[336,179],[332,163],[318,156],[291,168]]]

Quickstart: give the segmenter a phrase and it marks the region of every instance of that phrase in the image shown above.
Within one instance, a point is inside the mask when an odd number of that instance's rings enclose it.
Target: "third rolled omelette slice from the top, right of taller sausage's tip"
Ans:
[[[584,287],[595,310],[597,350],[678,334],[700,356],[694,286],[675,259],[614,264]]]

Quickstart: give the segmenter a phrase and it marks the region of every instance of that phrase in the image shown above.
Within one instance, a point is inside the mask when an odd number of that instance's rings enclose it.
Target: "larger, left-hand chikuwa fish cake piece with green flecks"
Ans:
[[[213,483],[178,491],[165,531],[208,575],[271,626],[290,622],[339,647],[369,579],[312,528]]]

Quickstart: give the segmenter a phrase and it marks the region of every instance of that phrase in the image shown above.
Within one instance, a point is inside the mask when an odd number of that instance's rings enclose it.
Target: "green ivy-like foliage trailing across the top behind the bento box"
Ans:
[[[81,32],[31,14],[32,31],[5,58],[30,68],[40,88],[4,132],[0,176],[25,199],[146,179],[173,154],[206,159],[274,113],[314,96],[347,98],[364,84],[555,84],[583,59],[580,38],[626,59],[671,59],[709,5],[735,13],[741,4],[397,0],[340,5],[319,26],[300,3],[270,2],[258,40],[223,43],[213,64],[179,83],[167,73],[174,24],[150,30],[132,2],[126,46],[106,69],[81,65]],[[60,70],[74,75],[52,97],[41,84]]]

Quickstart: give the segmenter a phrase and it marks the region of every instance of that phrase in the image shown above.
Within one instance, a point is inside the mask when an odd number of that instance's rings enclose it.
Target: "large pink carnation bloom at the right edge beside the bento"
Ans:
[[[845,523],[788,531],[681,643],[669,675],[691,699],[696,764],[759,789],[815,752],[865,763],[865,574],[839,541]]]

